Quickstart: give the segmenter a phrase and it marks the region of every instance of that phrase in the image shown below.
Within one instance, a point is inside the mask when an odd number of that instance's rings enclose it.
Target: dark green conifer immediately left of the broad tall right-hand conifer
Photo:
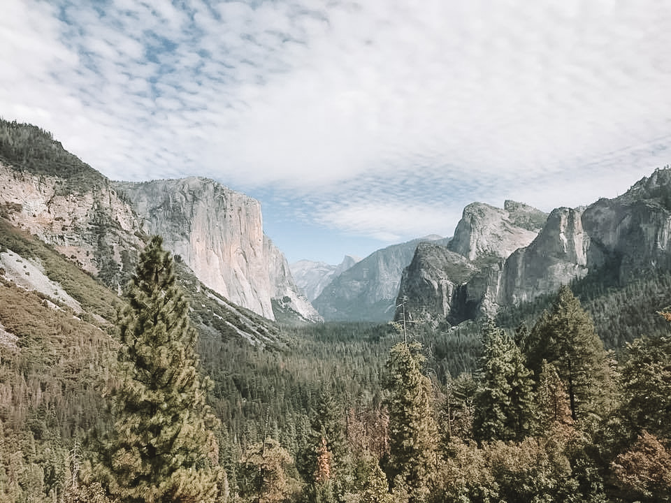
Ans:
[[[489,319],[482,343],[482,384],[475,398],[478,440],[524,439],[533,423],[531,372],[517,344]]]

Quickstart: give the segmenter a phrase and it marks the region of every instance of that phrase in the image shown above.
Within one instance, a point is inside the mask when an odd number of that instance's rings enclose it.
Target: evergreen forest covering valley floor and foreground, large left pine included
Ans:
[[[3,127],[3,161],[50,174]],[[33,133],[45,163],[88,173]],[[252,345],[225,323],[252,314],[215,311],[147,243],[120,297],[0,215],[0,253],[84,309],[0,270],[0,502],[671,499],[668,271],[592,272],[407,343],[256,319]]]

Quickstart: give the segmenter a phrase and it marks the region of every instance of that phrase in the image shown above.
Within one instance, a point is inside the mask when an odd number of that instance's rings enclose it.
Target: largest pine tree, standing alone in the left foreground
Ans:
[[[212,502],[224,472],[199,374],[196,333],[173,259],[154,237],[140,254],[120,322],[115,430],[101,471],[122,502]]]

